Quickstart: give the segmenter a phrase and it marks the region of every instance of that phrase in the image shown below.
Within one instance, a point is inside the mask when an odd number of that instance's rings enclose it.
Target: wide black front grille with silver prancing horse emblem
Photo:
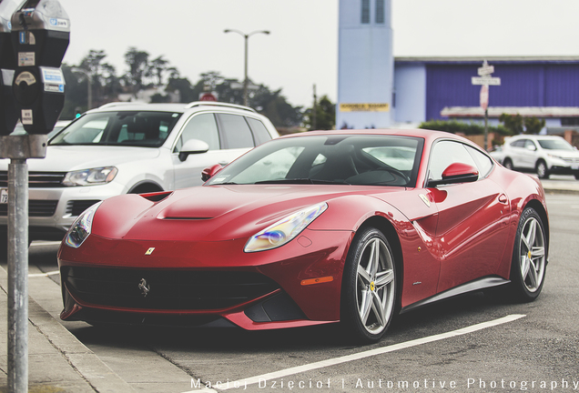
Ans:
[[[237,306],[279,286],[243,271],[190,271],[111,267],[62,267],[66,288],[81,302],[98,306],[210,310]],[[145,284],[148,289],[139,288]]]

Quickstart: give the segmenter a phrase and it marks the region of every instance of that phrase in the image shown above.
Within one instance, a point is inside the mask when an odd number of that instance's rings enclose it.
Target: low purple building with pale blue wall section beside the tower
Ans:
[[[401,123],[481,119],[481,86],[472,76],[494,66],[500,86],[489,86],[489,117],[503,113],[544,118],[547,127],[579,126],[579,56],[396,58],[394,119]]]

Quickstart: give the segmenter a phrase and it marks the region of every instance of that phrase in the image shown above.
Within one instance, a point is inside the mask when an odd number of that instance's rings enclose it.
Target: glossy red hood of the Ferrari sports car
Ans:
[[[403,190],[380,187],[381,194]],[[147,195],[115,196],[96,210],[93,234],[131,240],[230,240],[252,236],[320,202],[331,205],[330,201],[344,197],[376,201],[371,196],[376,192],[377,187],[367,186],[239,185],[192,187],[174,191],[158,202],[149,200],[158,197]]]

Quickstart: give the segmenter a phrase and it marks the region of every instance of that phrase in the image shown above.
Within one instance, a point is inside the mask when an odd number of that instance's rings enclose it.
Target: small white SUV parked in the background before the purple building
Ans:
[[[500,156],[509,169],[531,170],[540,178],[561,174],[579,179],[579,151],[561,136],[513,136],[505,140]]]

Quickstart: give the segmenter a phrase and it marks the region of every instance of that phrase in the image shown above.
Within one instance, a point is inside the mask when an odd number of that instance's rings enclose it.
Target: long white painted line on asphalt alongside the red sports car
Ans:
[[[506,317],[493,319],[493,320],[488,321],[488,322],[483,322],[483,323],[479,323],[476,325],[472,325],[472,326],[467,327],[467,328],[460,328],[458,330],[452,330],[450,332],[441,333],[441,334],[437,334],[434,336],[429,336],[429,337],[425,337],[425,338],[417,338],[417,339],[413,339],[411,341],[406,341],[403,343],[394,344],[394,345],[391,345],[388,347],[371,349],[368,351],[363,351],[363,352],[359,352],[359,353],[355,353],[355,354],[351,354],[351,355],[346,355],[346,356],[343,356],[340,358],[331,358],[331,359],[327,359],[327,360],[321,360],[319,362],[314,362],[314,363],[310,363],[307,365],[298,366],[298,367],[294,367],[294,368],[286,368],[284,370],[274,371],[274,372],[271,372],[268,374],[262,374],[262,375],[257,376],[257,377],[239,379],[237,381],[228,382],[227,384],[223,383],[219,387],[217,387],[217,386],[213,386],[212,388],[204,387],[200,390],[191,390],[190,392],[192,392],[192,391],[217,392],[219,390],[229,390],[231,388],[236,388],[236,387],[237,388],[246,387],[249,385],[257,384],[257,383],[259,383],[259,381],[262,381],[262,383],[263,383],[263,381],[288,377],[290,375],[299,374],[299,373],[310,371],[310,370],[317,369],[317,368],[327,368],[330,366],[338,365],[340,363],[346,363],[346,362],[349,362],[352,360],[359,360],[361,358],[369,358],[372,356],[381,355],[381,354],[385,354],[388,352],[393,352],[393,351],[396,351],[399,349],[411,348],[411,347],[416,347],[416,346],[419,346],[422,344],[431,343],[433,341],[439,341],[439,340],[442,340],[445,338],[453,338],[453,337],[457,337],[457,336],[462,336],[462,335],[465,335],[468,333],[482,330],[484,328],[492,328],[492,327],[495,327],[498,325],[503,325],[503,324],[508,323],[508,322],[513,322],[514,320],[517,320],[517,319],[522,318],[522,317],[526,317],[526,316],[523,314],[513,314],[513,315],[506,316]],[[184,393],[190,393],[190,392],[184,392]]]

